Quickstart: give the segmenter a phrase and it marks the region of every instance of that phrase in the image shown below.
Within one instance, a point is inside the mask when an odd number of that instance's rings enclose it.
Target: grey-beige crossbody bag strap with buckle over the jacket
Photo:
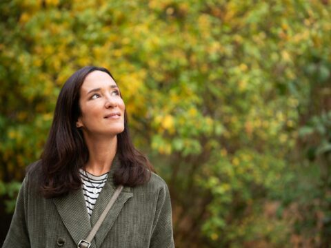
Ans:
[[[110,198],[108,205],[99,217],[99,220],[97,221],[97,223],[95,223],[94,227],[90,231],[90,234],[88,234],[88,238],[86,238],[86,240],[79,241],[78,248],[89,248],[91,246],[91,241],[93,240],[95,234],[97,234],[97,231],[103,223],[103,220],[106,218],[108,211],[112,208],[112,205],[114,205],[114,202],[119,197],[119,194],[121,194],[122,189],[123,185],[119,185],[119,187],[117,187],[116,191],[112,195],[112,198]]]

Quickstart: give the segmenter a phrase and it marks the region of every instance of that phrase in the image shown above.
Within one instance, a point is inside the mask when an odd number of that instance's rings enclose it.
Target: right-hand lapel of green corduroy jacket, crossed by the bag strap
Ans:
[[[103,189],[101,190],[99,197],[97,199],[97,202],[94,205],[94,209],[92,211],[92,216],[90,218],[91,226],[93,227],[95,223],[97,223],[97,220],[99,219],[99,216],[101,216],[101,213],[106,208],[106,206],[109,203],[110,198],[114,194],[116,190],[116,186],[114,185],[114,172],[120,167],[120,162],[118,156],[115,156],[114,161],[112,163],[112,167],[110,169],[110,172],[108,174],[108,179],[105,185],[103,186]],[[119,198],[115,201],[114,205],[112,205],[112,208],[108,212],[105,220],[103,220],[103,223],[97,231],[97,234],[95,235],[95,242],[97,247],[100,247],[104,238],[112,228],[112,225],[114,224],[115,220],[117,219],[117,216],[119,216],[119,213],[121,209],[123,208],[126,201],[133,196],[132,192],[130,192],[130,187],[124,187],[121,194],[119,195]]]

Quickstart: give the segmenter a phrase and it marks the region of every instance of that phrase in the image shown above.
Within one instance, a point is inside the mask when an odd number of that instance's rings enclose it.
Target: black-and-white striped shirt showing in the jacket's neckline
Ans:
[[[108,173],[105,173],[101,176],[94,176],[83,169],[79,169],[81,175],[81,180],[83,180],[83,193],[85,198],[86,207],[88,209],[88,216],[92,216],[92,211],[97,201],[97,198],[105,185]]]

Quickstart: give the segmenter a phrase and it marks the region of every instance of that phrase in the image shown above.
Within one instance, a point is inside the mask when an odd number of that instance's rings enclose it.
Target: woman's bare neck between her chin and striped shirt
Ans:
[[[88,147],[88,163],[86,172],[100,176],[110,171],[112,161],[117,151],[117,136],[112,138],[89,138],[84,136]]]

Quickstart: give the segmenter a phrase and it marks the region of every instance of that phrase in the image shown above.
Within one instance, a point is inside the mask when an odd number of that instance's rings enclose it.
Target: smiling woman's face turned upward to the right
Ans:
[[[83,81],[79,106],[81,116],[77,120],[88,135],[116,135],[124,130],[125,105],[119,88],[106,72],[93,71]]]

